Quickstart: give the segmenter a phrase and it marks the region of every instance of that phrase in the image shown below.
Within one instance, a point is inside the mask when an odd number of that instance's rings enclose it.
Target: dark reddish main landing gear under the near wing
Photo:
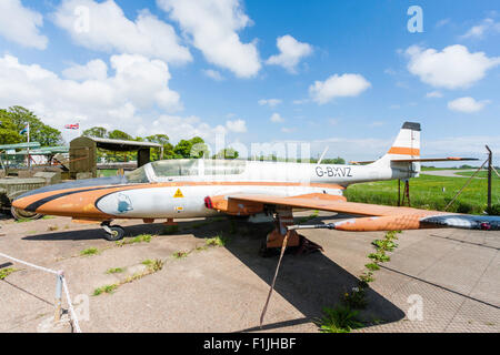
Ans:
[[[274,214],[274,230],[268,234],[266,242],[262,243],[260,255],[269,257],[279,254],[288,234],[287,247],[293,254],[310,254],[323,251],[318,245],[296,231],[289,231],[287,227],[293,225],[293,213],[291,207],[277,207]]]

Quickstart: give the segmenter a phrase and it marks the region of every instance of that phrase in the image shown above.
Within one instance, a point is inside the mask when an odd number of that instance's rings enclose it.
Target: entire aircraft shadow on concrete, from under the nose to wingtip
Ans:
[[[338,217],[346,217],[339,215]],[[310,224],[321,223],[322,219],[331,220],[332,216],[317,217],[309,221]],[[208,223],[209,222],[209,223]],[[297,219],[300,222],[300,217]],[[247,265],[256,275],[264,281],[269,286],[272,283],[274,271],[278,263],[278,255],[262,257],[259,250],[264,236],[272,230],[270,223],[246,223],[234,222],[237,231],[231,235],[230,220],[207,220],[204,223],[180,222],[179,232],[174,234],[190,233],[198,239],[213,237],[214,234],[222,233],[229,236],[230,242],[226,248]],[[126,227],[126,237],[133,237],[140,234],[162,234],[166,226],[157,224],[138,224]],[[27,241],[68,241],[68,240],[99,240],[103,236],[102,229],[89,229],[80,231],[67,231],[58,233],[47,233],[40,235],[29,235],[23,237]],[[334,233],[334,232],[332,232]],[[276,283],[274,292],[280,294],[287,302],[296,307],[304,317],[278,323],[267,323],[262,329],[283,328],[292,325],[300,325],[320,318],[323,315],[323,308],[333,308],[341,304],[342,294],[358,285],[358,278],[338,265],[334,261],[327,257],[323,253],[312,253],[309,255],[287,254],[280,268]],[[367,292],[369,305],[367,310],[360,312],[361,318],[367,324],[383,324],[400,321],[404,313],[386,300],[376,291],[369,288]],[[256,300],[261,302],[262,307],[266,298]],[[276,305],[276,294],[271,298],[269,310]],[[269,315],[269,312],[268,312]],[[258,322],[260,314],[256,314]],[[269,316],[268,316],[269,318]],[[239,332],[260,331],[260,327],[239,329]]]

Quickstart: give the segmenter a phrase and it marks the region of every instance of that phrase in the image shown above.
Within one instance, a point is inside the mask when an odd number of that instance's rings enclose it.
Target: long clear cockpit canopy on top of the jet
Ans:
[[[149,163],[127,174],[129,183],[148,183],[168,178],[240,175],[247,169],[241,160],[164,160]]]

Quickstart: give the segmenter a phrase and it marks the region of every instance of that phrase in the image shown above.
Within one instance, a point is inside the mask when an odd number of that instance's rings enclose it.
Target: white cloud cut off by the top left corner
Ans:
[[[23,47],[44,50],[49,40],[40,34],[41,13],[24,8],[20,0],[0,1],[0,36]]]

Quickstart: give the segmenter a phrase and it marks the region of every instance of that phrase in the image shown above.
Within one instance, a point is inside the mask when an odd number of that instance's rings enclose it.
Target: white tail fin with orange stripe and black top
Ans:
[[[393,160],[404,160],[404,159],[419,159],[420,158],[420,123],[416,122],[404,122],[401,130],[399,131],[398,138],[392,144],[389,152],[381,159],[376,161],[372,165],[377,166],[392,166]],[[397,163],[399,164],[399,163]],[[416,163],[413,166],[406,164],[406,169],[420,172],[420,164]],[[399,169],[404,169],[404,166],[398,166]]]

